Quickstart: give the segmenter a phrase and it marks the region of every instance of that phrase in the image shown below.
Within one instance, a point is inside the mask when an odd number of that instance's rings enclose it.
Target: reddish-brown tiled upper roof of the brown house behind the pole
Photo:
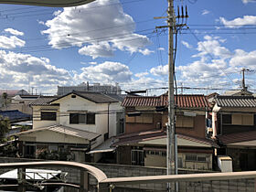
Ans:
[[[175,102],[178,108],[206,108],[210,107],[204,95],[176,95]],[[161,107],[168,105],[168,95],[164,94],[157,97],[128,96],[124,99],[124,107]]]

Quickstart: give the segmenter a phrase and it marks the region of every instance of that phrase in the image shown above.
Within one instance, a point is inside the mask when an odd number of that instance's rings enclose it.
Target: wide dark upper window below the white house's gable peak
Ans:
[[[70,113],[69,114],[70,124],[95,124],[95,113]]]

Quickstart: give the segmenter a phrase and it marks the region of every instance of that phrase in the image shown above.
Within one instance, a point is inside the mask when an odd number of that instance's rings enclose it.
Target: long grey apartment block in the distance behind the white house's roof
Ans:
[[[59,96],[68,94],[71,91],[91,91],[91,92],[101,92],[105,94],[117,94],[121,95],[121,88],[118,85],[118,83],[115,83],[115,85],[111,84],[103,84],[101,83],[93,83],[92,85],[89,84],[89,81],[82,82],[80,85],[77,86],[58,86],[58,92],[57,94]]]

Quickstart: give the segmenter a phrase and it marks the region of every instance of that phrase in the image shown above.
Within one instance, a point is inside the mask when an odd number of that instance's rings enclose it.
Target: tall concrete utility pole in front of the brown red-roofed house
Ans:
[[[181,15],[179,14],[178,7],[178,16],[177,18],[187,19],[187,6],[186,6],[186,15],[184,15],[183,6],[181,6]],[[156,28],[168,28],[168,69],[169,69],[169,79],[168,79],[168,123],[166,124],[167,131],[167,153],[166,153],[166,166],[167,166],[167,175],[176,175],[177,174],[177,146],[176,146],[176,128],[175,128],[175,60],[174,60],[174,33],[177,33],[176,27],[184,27],[186,24],[176,25],[176,14],[174,10],[174,0],[168,0],[168,11],[166,16],[158,16],[158,18],[167,18],[167,26],[156,27]],[[177,191],[176,185],[167,184],[167,191]]]

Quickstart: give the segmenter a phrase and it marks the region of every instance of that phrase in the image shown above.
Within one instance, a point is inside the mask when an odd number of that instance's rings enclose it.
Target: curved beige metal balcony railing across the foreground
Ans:
[[[58,183],[59,186],[78,187],[80,191],[89,190],[89,175],[94,176],[97,180],[98,192],[112,191],[115,186],[121,185],[133,185],[133,184],[152,184],[152,183],[171,183],[171,182],[184,182],[184,181],[218,181],[218,180],[230,180],[230,179],[256,179],[256,171],[247,172],[229,172],[229,173],[209,173],[209,174],[188,174],[188,175],[173,175],[173,176],[130,176],[130,177],[114,177],[108,178],[100,169],[91,166],[80,164],[76,162],[27,162],[27,163],[8,163],[0,164],[2,168],[17,168],[18,170],[25,170],[32,167],[71,167],[80,170],[80,185],[76,186],[68,183]],[[19,177],[18,179],[21,179]],[[256,180],[255,182],[256,183]],[[18,183],[19,191],[25,191],[25,187],[22,182]],[[55,185],[55,184],[45,184]],[[256,191],[256,185],[254,186]]]

